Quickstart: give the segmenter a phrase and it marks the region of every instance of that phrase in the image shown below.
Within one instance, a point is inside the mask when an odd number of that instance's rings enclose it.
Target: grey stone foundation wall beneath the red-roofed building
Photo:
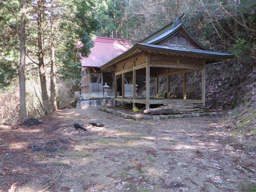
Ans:
[[[102,107],[102,106],[113,106],[114,98],[108,97],[93,97],[93,98],[84,98],[80,96],[76,104],[76,108],[90,108],[90,107]]]

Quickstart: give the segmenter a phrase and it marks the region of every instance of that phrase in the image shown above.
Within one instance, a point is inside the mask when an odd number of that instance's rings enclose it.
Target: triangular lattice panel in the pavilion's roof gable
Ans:
[[[161,45],[195,48],[181,33],[174,34],[173,37],[162,42]]]

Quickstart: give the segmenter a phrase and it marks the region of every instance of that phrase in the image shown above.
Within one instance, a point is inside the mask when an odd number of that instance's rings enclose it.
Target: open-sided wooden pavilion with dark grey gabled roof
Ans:
[[[183,15],[182,15],[183,16]],[[181,18],[181,17],[180,17]],[[149,35],[132,48],[99,67],[102,72],[114,72],[114,99],[146,104],[172,103],[169,98],[170,75],[183,74],[183,99],[177,101],[205,105],[205,69],[208,63],[229,60],[233,54],[213,52],[200,44],[186,29],[180,18]],[[186,99],[186,74],[202,71],[202,98]],[[118,76],[121,76],[122,96],[117,95]],[[125,94],[125,77],[132,79],[132,96]],[[136,76],[146,77],[146,97],[136,97]],[[167,99],[158,98],[158,78],[167,76]],[[156,78],[156,95],[150,97],[150,78]]]

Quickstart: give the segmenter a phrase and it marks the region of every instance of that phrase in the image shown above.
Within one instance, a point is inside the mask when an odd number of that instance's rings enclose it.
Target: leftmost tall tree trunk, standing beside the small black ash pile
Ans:
[[[25,6],[26,6],[26,0],[22,0],[21,9],[25,9]],[[25,82],[26,82],[25,17],[26,17],[26,14],[23,11],[20,16],[20,61],[19,61],[20,117],[21,117],[22,123],[27,120],[26,85],[25,85]]]

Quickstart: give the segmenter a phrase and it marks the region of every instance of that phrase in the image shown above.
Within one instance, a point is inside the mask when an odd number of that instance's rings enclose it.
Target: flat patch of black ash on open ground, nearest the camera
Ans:
[[[57,151],[68,150],[69,144],[70,142],[67,139],[50,140],[45,143],[32,143],[29,148],[32,153],[56,153]]]

